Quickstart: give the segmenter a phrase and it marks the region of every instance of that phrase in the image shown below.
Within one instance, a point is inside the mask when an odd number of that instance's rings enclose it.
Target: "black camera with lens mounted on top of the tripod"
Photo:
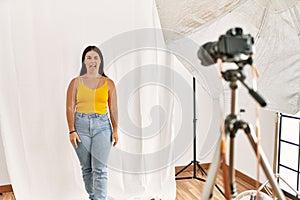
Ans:
[[[203,44],[198,51],[198,58],[204,66],[216,63],[218,58],[223,62],[245,64],[251,60],[253,44],[253,37],[250,34],[243,34],[242,28],[231,28],[226,34],[221,35],[218,41]]]

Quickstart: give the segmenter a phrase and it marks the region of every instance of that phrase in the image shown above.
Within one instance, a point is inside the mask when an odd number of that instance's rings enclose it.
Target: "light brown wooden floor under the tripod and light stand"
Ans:
[[[192,177],[192,171],[184,171],[180,173],[177,177]],[[197,172],[198,178],[205,179],[206,177],[201,174],[201,172]],[[223,190],[223,179],[222,179],[222,172],[219,171],[217,176],[216,184]],[[197,179],[183,179],[183,180],[176,180],[176,200],[198,200],[201,197],[201,191],[203,189],[204,182],[199,181]],[[236,176],[236,189],[238,193],[241,193],[246,190],[255,189],[253,183],[251,181],[245,180],[244,177]],[[211,200],[223,200],[225,199],[224,196],[216,189],[213,191],[213,198]],[[10,193],[3,193],[0,196],[0,200],[15,200],[14,195],[12,192]],[[287,200],[289,200],[287,198]]]

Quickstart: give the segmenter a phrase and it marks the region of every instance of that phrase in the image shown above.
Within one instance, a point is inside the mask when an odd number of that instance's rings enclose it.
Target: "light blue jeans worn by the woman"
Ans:
[[[75,113],[75,129],[81,140],[75,148],[80,161],[85,189],[90,199],[105,200],[107,160],[112,128],[107,114]]]

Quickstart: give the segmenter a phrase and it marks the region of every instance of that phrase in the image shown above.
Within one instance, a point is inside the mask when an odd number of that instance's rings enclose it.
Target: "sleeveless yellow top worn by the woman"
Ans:
[[[107,79],[104,84],[96,89],[90,89],[78,78],[78,87],[76,94],[76,112],[80,113],[107,113],[108,86]]]

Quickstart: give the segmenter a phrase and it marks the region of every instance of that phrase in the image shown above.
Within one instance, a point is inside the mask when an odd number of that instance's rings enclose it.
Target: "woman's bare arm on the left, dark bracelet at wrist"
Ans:
[[[80,139],[75,132],[74,127],[74,111],[75,111],[75,101],[76,101],[76,90],[77,90],[77,79],[74,78],[68,87],[67,90],[67,103],[66,103],[66,114],[67,114],[67,121],[68,127],[70,132],[70,141],[74,147],[77,148],[77,141],[80,142]]]

